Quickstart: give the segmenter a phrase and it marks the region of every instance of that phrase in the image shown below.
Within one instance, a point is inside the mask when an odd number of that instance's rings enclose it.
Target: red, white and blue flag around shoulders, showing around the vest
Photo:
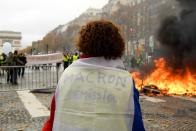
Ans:
[[[80,57],[81,59],[75,61],[72,65],[70,65],[70,68],[71,67],[74,67],[74,66],[80,66],[80,65],[92,65],[92,66],[97,66],[98,67],[104,67],[104,68],[116,68],[117,70],[123,70],[125,69],[124,68],[124,65],[122,63],[122,61],[120,59],[117,59],[117,60],[105,60],[104,58],[102,57],[89,57],[89,56],[81,56]],[[68,67],[69,68],[69,67]],[[62,76],[63,77],[63,76]],[[131,78],[131,76],[130,76]],[[127,96],[128,99],[127,101],[125,100],[125,102],[127,103],[126,104],[126,109],[125,109],[125,113],[122,112],[122,114],[124,114],[124,122],[122,121],[122,124],[120,123],[117,123],[117,125],[119,124],[120,126],[121,125],[125,125],[125,126],[122,126],[122,131],[145,131],[144,129],[144,125],[143,125],[143,120],[142,120],[142,114],[141,114],[141,109],[140,109],[140,104],[139,104],[139,92],[137,91],[137,89],[135,88],[135,84],[134,84],[134,81],[133,79],[131,78],[131,82],[130,82],[130,87],[132,87],[132,89],[130,90],[130,94],[128,94]],[[59,123],[58,122],[55,122],[55,120],[59,120],[59,118],[55,118],[55,117],[59,117],[59,106],[56,102],[59,103],[59,92],[60,89],[57,88],[56,90],[56,93],[55,93],[55,96],[52,98],[52,103],[51,103],[51,114],[50,114],[50,118],[48,119],[48,121],[44,124],[44,127],[42,128],[42,131],[61,131],[61,130],[67,130],[67,131],[91,131],[90,129],[92,128],[76,128],[76,127],[58,127],[59,126]],[[115,94],[115,93],[113,93]],[[125,94],[126,95],[126,94]],[[70,95],[72,96],[72,95]],[[118,94],[117,94],[118,96]],[[121,96],[122,97],[122,96]],[[125,97],[126,98],[126,97]],[[81,98],[82,99],[82,98]],[[123,101],[122,101],[123,102]],[[90,106],[90,105],[89,105]],[[123,109],[123,108],[122,108]],[[114,109],[115,110],[115,109]],[[55,113],[56,112],[56,113]],[[127,112],[127,113],[126,113]],[[89,113],[87,113],[89,114]],[[90,115],[93,114],[92,112],[90,113]],[[95,112],[95,114],[97,114]],[[57,116],[56,116],[57,115]],[[109,117],[111,117],[112,114],[109,114]],[[114,112],[114,115],[119,115],[119,113],[115,114]],[[118,116],[119,118],[121,116]],[[69,118],[69,117],[67,117]],[[107,119],[108,117],[106,117]],[[105,119],[104,119],[105,120]],[[66,122],[67,120],[64,120],[65,121],[65,125],[66,123],[69,123]],[[114,121],[114,118],[111,119],[111,121]],[[97,122],[97,123],[100,123],[101,121]],[[112,122],[108,121],[108,124],[112,124]],[[124,123],[124,124],[123,124]],[[107,128],[107,123],[106,124],[106,128]],[[62,126],[62,123],[60,124]],[[82,124],[83,125],[83,124]],[[67,126],[67,125],[66,125]],[[115,126],[115,125],[114,125]],[[102,126],[100,126],[102,128]],[[96,129],[97,131],[98,129]],[[101,129],[103,130],[103,129]],[[101,131],[100,130],[100,131]],[[114,130],[114,129],[112,129]],[[94,131],[94,130],[93,130]],[[110,129],[108,130],[110,131]]]

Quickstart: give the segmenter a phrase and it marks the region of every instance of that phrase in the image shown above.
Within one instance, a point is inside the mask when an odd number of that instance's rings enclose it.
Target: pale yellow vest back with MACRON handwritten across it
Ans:
[[[133,83],[128,72],[68,67],[55,94],[53,131],[130,131]]]

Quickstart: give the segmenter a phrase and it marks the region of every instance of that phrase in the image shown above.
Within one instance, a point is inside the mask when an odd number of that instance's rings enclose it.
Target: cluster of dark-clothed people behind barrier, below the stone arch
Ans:
[[[9,52],[8,56],[4,53],[0,55],[1,75],[7,73],[7,83],[17,85],[17,78],[24,77],[25,64],[27,63],[26,56],[23,53]]]

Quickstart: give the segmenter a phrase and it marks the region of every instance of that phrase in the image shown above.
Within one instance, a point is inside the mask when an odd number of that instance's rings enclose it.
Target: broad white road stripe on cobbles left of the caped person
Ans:
[[[17,93],[31,117],[49,116],[50,111],[29,90]]]

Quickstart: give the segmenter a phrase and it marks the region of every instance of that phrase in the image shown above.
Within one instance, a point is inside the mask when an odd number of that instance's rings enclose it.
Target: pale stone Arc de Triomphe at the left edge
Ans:
[[[0,31],[0,54],[3,53],[3,44],[8,42],[11,44],[12,52],[19,50],[21,47],[21,32]]]

